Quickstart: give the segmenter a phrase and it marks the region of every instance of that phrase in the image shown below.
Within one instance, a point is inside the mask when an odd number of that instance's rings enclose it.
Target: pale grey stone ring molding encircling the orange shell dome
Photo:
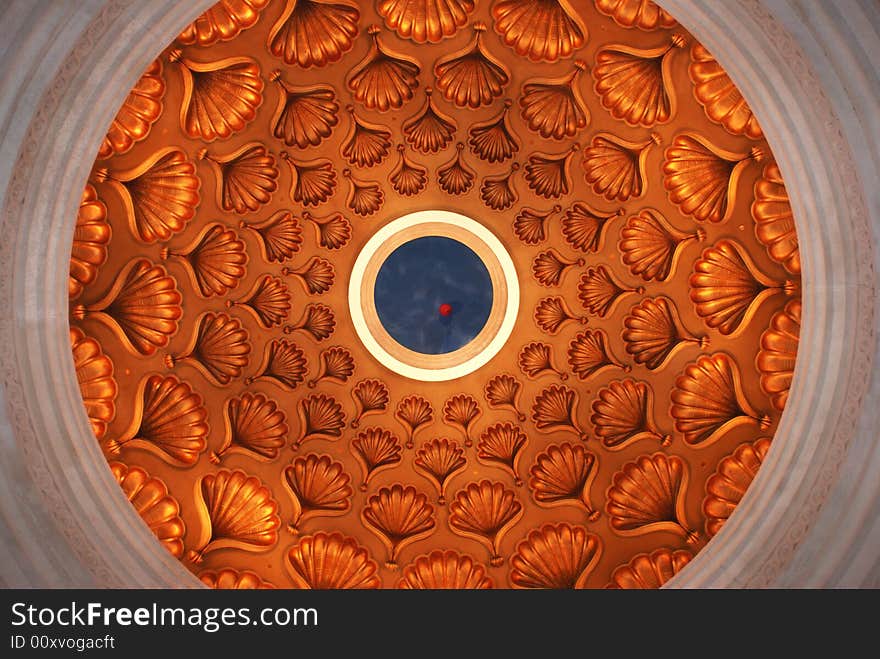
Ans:
[[[4,9],[13,53],[0,105],[4,585],[199,585],[152,539],[91,441],[66,282],[75,209],[106,125],[156,44],[211,4],[18,0]],[[729,522],[668,586],[880,586],[880,200],[865,192],[880,157],[853,111],[877,111],[870,62],[880,39],[857,28],[880,23],[880,10],[662,4],[758,116],[790,186],[806,273],[801,354],[773,447]]]

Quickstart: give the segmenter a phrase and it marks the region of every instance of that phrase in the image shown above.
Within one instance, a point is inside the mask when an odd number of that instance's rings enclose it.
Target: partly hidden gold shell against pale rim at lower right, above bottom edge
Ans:
[[[718,463],[715,473],[706,481],[703,514],[706,516],[706,535],[714,536],[730,518],[743,495],[752,484],[758,469],[770,450],[770,439],[740,444],[733,453]]]

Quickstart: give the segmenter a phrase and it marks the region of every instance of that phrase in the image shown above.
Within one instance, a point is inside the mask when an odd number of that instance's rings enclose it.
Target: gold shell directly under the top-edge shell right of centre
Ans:
[[[590,123],[590,110],[578,82],[586,62],[575,60],[574,71],[561,78],[535,78],[523,85],[519,105],[529,128],[541,137],[574,137]]]

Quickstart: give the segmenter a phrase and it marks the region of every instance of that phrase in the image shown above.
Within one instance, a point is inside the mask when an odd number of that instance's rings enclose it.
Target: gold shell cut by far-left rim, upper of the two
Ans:
[[[70,250],[70,275],[67,293],[71,300],[98,277],[98,268],[107,260],[107,245],[112,230],[107,222],[107,207],[93,185],[86,184],[76,214],[73,246]]]

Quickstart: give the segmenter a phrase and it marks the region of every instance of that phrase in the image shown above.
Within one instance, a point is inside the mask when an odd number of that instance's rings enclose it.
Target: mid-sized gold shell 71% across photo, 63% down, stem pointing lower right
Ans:
[[[654,391],[644,382],[613,380],[599,390],[592,408],[590,423],[609,450],[626,448],[641,439],[658,441],[663,446],[672,443],[672,437],[661,435],[654,423]]]

